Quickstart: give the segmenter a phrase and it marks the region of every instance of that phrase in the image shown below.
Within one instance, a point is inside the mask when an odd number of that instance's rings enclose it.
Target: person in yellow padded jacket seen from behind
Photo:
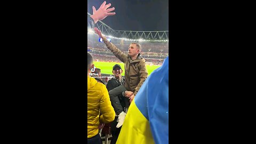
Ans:
[[[90,77],[90,73],[94,70],[93,57],[87,52],[87,143],[102,144],[99,125],[113,122],[115,111],[111,106],[106,86]]]

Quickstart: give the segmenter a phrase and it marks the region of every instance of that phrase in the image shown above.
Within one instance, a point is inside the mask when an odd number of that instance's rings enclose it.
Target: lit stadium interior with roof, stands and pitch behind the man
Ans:
[[[98,21],[95,27],[125,54],[128,54],[131,43],[139,43],[142,47],[140,53],[146,61],[149,75],[169,56],[169,31],[114,30],[102,21]],[[87,51],[93,55],[94,66],[100,68],[102,74],[111,75],[116,63],[123,67],[124,63],[108,50],[106,44],[94,33],[93,29],[87,29],[87,36]]]

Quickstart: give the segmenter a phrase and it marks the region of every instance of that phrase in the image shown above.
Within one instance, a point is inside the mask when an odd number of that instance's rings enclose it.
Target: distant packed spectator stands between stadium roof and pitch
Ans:
[[[119,50],[127,54],[131,41],[111,38],[111,43]],[[169,55],[168,42],[139,42],[142,46],[141,55],[146,62],[152,62],[153,65],[162,65],[163,60]],[[92,53],[94,61],[121,62],[110,52],[104,43],[99,42],[99,38],[90,35],[87,39],[87,51]]]

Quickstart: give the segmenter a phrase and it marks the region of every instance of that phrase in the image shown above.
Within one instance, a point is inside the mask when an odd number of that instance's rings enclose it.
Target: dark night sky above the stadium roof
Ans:
[[[103,0],[88,0],[87,10],[99,9]],[[168,0],[111,0],[115,15],[102,20],[115,30],[169,30]]]

